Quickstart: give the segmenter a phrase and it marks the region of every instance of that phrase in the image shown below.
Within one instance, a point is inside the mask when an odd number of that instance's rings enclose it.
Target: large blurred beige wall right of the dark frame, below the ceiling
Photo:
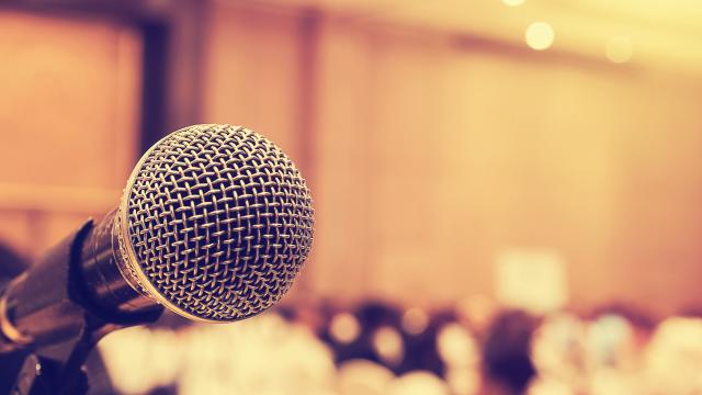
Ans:
[[[253,125],[295,159],[314,147],[312,290],[490,295],[496,257],[533,248],[563,258],[576,307],[700,302],[699,77],[343,15],[318,15],[309,36],[305,13],[211,12],[206,116]]]

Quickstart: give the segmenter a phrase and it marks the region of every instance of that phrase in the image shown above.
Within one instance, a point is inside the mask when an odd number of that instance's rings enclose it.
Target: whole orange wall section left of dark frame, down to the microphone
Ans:
[[[118,202],[137,155],[140,38],[0,12],[0,238],[37,256]]]

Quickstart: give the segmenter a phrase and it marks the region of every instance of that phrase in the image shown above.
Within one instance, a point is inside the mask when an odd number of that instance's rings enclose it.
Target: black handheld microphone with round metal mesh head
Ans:
[[[291,287],[313,240],[312,196],[273,143],[194,125],[138,161],[118,206],[88,222],[0,297],[0,352],[156,319],[257,315]]]

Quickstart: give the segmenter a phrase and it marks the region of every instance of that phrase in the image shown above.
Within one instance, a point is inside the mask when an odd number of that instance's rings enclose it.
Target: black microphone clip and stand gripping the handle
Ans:
[[[88,394],[91,383],[84,364],[95,343],[113,330],[154,323],[163,312],[159,307],[113,314],[92,303],[80,260],[92,227],[89,219],[21,274],[32,280],[25,290],[32,297],[25,298],[22,307],[35,312],[32,319],[50,324],[52,330],[25,347],[0,334],[0,394]],[[12,282],[0,289],[0,294],[11,289]],[[2,308],[0,314],[4,314]]]

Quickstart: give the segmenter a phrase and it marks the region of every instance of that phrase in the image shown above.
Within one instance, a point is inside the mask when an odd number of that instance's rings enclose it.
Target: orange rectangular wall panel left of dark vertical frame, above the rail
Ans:
[[[0,32],[0,182],[121,188],[134,156],[138,41],[104,22],[9,11]]]

